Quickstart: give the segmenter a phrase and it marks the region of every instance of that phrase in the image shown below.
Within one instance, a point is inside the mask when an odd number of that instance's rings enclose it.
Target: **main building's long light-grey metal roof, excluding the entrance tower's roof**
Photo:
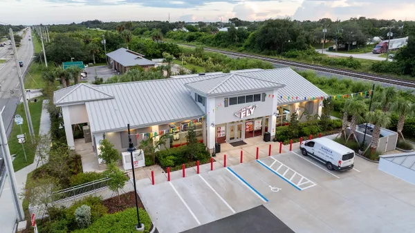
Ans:
[[[248,79],[249,81],[255,80],[256,85],[278,85],[279,87],[279,83],[283,83],[286,86],[278,90],[284,90],[282,92],[284,94],[326,95],[290,68],[279,68],[105,85],[80,83],[56,91],[54,102],[59,106],[85,103],[91,132],[125,130],[128,123],[131,128],[145,128],[201,117],[204,112],[190,96],[190,90],[185,84],[230,76],[235,78],[231,80],[233,82]],[[238,83],[239,86],[243,85]]]

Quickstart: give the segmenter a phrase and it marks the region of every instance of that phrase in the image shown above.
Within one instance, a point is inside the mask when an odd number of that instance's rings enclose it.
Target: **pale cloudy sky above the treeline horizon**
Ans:
[[[13,25],[101,21],[248,21],[351,17],[415,20],[415,0],[0,0],[0,22]]]

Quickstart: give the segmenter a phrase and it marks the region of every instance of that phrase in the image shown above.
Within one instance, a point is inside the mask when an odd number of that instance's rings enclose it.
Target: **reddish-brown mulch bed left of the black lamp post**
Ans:
[[[136,207],[136,199],[134,197],[134,193],[134,191],[131,191],[127,192],[126,194],[122,194],[120,195],[120,199],[118,199],[118,196],[114,196],[111,199],[102,201],[102,204],[108,208],[109,214],[126,210],[129,207]],[[137,195],[137,198],[138,207],[145,209],[144,205],[141,203],[140,196]]]

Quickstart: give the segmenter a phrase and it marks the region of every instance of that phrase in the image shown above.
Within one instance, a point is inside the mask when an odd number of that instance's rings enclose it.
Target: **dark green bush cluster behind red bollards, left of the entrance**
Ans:
[[[178,148],[170,148],[167,150],[160,150],[156,153],[156,159],[162,168],[170,167],[171,170],[181,169],[183,163],[189,163],[191,161],[198,161],[200,163],[206,163],[210,154],[206,150],[203,143],[197,143],[196,152],[194,152],[194,158],[190,159],[187,154],[187,145],[182,145]]]

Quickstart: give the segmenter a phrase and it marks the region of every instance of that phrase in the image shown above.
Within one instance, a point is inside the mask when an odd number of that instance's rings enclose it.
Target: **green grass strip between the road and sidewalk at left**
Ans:
[[[43,98],[38,98],[37,102],[35,103],[29,102],[30,115],[32,117],[33,128],[35,130],[36,135],[39,134],[40,115],[42,114],[42,101]],[[19,144],[19,142],[17,141],[17,135],[21,134],[20,127],[19,125],[16,125],[16,123],[13,121],[12,132],[10,134],[8,143],[10,148],[10,154],[16,154],[15,160],[13,160],[13,168],[15,168],[15,172],[33,163],[33,159],[35,159],[36,150],[34,147],[30,146],[28,121],[26,119],[26,114],[24,112],[23,103],[20,103],[17,106],[16,114],[21,115],[21,117],[23,117],[24,119],[24,123],[23,125],[21,125],[21,129],[23,130],[23,133],[26,134],[26,143],[24,144],[24,149],[26,150],[26,156],[28,158],[28,161],[26,162],[26,160],[24,159],[23,148],[21,147],[21,144]]]

